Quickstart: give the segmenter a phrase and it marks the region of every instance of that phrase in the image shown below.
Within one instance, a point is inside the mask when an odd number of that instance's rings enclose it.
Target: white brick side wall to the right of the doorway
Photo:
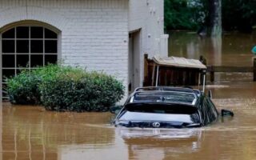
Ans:
[[[164,35],[164,0],[130,0],[129,31],[141,30],[140,85],[144,75],[144,54],[168,56]]]

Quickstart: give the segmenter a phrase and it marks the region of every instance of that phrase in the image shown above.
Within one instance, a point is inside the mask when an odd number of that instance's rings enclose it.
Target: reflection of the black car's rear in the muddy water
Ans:
[[[129,159],[165,159],[167,154],[193,153],[201,148],[202,130],[118,128]]]

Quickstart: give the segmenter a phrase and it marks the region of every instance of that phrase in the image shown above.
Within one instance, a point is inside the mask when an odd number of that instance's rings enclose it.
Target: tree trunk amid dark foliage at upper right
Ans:
[[[210,36],[222,35],[222,0],[210,0]]]

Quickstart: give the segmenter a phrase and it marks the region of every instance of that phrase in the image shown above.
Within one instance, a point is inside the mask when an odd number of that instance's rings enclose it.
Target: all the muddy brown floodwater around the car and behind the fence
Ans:
[[[175,33],[170,36],[170,54],[187,58],[203,54],[208,64],[251,66],[255,37],[234,33],[214,42]],[[110,126],[110,113],[57,113],[39,106],[2,103],[0,159],[256,159],[256,83],[252,74],[217,77],[207,89],[213,90],[218,110],[233,110],[235,116],[196,129],[120,129]]]

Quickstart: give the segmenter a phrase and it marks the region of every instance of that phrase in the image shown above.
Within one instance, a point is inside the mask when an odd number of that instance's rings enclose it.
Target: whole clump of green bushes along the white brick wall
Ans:
[[[54,65],[22,72],[8,80],[7,90],[14,104],[78,112],[109,110],[124,94],[122,82],[110,75]]]

